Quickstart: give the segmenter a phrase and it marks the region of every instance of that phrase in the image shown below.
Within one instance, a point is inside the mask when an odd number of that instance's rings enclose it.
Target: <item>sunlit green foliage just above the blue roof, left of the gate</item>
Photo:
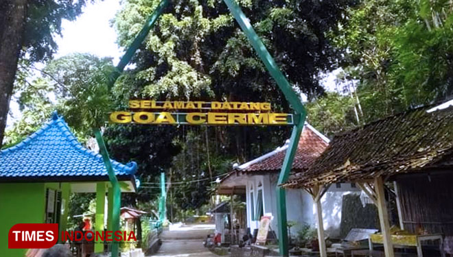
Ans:
[[[40,76],[34,76],[32,71],[38,71]],[[5,133],[5,147],[36,131],[54,110],[85,141],[93,127],[105,124],[107,113],[113,109],[107,88],[111,71],[110,59],[81,53],[52,60],[44,69],[23,61],[15,87],[22,118]],[[33,77],[36,78],[29,82]]]

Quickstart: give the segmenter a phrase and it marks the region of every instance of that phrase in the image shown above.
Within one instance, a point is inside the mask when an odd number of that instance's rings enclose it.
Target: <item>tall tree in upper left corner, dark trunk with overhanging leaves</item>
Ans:
[[[73,20],[88,0],[3,0],[0,3],[0,145],[20,58],[48,60],[62,19]]]

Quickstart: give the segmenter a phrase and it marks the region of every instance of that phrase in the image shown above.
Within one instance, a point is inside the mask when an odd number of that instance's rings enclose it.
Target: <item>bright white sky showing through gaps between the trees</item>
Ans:
[[[62,21],[62,37],[56,36],[58,51],[55,58],[69,53],[91,53],[99,57],[112,57],[117,64],[124,51],[116,44],[117,34],[110,21],[115,17],[121,5],[120,0],[95,1],[84,8],[84,12],[75,21]],[[43,64],[36,64],[42,66]],[[334,79],[338,71],[326,75],[323,84],[328,90],[334,89]],[[7,128],[21,118],[19,105],[12,99]]]

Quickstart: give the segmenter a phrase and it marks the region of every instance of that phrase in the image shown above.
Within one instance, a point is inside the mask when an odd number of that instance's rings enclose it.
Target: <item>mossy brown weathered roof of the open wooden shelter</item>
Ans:
[[[360,182],[439,164],[453,153],[453,107],[427,110],[409,110],[336,134],[312,167],[284,186]]]

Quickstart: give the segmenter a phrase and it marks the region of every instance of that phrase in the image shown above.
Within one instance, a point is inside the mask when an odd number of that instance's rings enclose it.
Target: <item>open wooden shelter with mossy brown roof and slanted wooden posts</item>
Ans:
[[[334,136],[329,147],[286,188],[305,188],[318,213],[321,256],[327,256],[319,199],[330,184],[356,183],[377,206],[385,256],[393,257],[385,199],[395,184],[399,223],[411,232],[453,232],[453,108],[421,107]],[[421,253],[419,253],[419,256]]]

